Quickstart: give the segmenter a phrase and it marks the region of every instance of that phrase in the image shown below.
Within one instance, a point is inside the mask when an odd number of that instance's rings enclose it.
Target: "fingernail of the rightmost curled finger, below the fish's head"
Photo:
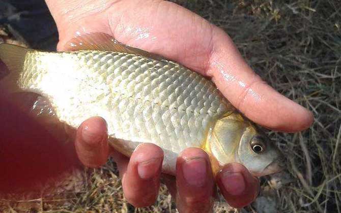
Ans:
[[[245,191],[245,179],[241,172],[226,171],[221,174],[221,182],[230,195],[242,195]]]

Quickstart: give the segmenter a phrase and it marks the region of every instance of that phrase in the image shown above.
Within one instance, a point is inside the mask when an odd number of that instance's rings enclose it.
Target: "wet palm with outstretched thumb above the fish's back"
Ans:
[[[54,13],[59,50],[65,50],[76,33],[105,32],[124,44],[160,54],[211,77],[224,96],[256,123],[289,132],[311,124],[307,110],[265,84],[228,35],[200,16],[164,1],[114,2],[106,1],[101,8],[90,2],[84,9]]]

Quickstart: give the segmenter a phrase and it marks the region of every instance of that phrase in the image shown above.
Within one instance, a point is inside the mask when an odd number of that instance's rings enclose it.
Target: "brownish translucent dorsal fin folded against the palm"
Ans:
[[[165,59],[164,57],[153,54],[144,50],[129,47],[121,42],[117,41],[111,35],[103,32],[95,32],[78,35],[77,37],[71,39],[66,44],[66,49],[70,51],[77,50],[100,50],[100,51],[112,51],[112,52],[122,52],[122,53],[132,53],[141,55],[148,58],[153,58],[155,60]]]

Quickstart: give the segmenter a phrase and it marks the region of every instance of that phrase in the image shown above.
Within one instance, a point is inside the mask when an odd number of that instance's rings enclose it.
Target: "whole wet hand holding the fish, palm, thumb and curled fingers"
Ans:
[[[254,74],[224,31],[176,4],[151,0],[46,3],[59,30],[59,51],[67,50],[66,43],[77,33],[104,32],[211,78],[237,109],[266,128],[295,132],[313,121],[310,112]],[[128,202],[135,206],[153,204],[160,183],[162,150],[152,144],[141,145],[129,160],[109,148],[106,136],[101,118],[82,123],[75,140],[80,161],[97,167],[110,153],[118,163]],[[166,178],[165,182],[180,212],[210,209],[215,183],[235,207],[252,202],[259,190],[258,180],[236,163],[226,165],[214,180],[207,154],[195,148],[180,154],[176,174],[175,180]]]

